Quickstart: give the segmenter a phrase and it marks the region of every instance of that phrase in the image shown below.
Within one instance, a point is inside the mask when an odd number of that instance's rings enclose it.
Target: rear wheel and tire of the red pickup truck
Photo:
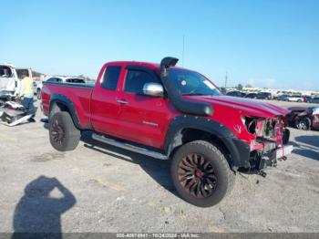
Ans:
[[[49,119],[50,143],[57,151],[73,151],[77,148],[81,133],[68,112],[56,112]],[[58,138],[60,136],[60,138]]]

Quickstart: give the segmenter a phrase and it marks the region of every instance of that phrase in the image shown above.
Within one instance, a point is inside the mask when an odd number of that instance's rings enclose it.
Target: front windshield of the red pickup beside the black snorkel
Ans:
[[[183,96],[221,95],[220,90],[208,78],[194,71],[170,68],[169,78]]]

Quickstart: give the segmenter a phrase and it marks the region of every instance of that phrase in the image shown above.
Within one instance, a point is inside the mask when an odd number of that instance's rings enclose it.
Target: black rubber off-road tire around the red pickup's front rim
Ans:
[[[201,155],[206,161],[209,161],[211,163],[211,168],[213,168],[215,173],[215,188],[208,197],[200,198],[191,194],[190,189],[186,189],[185,186],[182,185],[182,182],[180,182],[180,161],[192,153]],[[183,169],[181,169],[181,171],[183,171]],[[186,202],[200,207],[210,207],[220,203],[221,200],[232,191],[235,181],[235,173],[231,170],[230,165],[222,151],[217,146],[211,144],[211,142],[204,140],[191,141],[181,146],[172,158],[170,174],[175,188],[180,194],[180,197]],[[197,172],[194,172],[194,175],[191,177],[196,179],[196,174]],[[203,195],[203,193],[200,192],[200,195]]]

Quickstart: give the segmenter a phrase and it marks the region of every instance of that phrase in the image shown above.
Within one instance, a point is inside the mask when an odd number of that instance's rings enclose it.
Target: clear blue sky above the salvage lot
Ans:
[[[319,90],[319,1],[3,1],[0,62],[96,77],[113,60],[200,71],[218,85]],[[182,36],[185,36],[185,57]]]

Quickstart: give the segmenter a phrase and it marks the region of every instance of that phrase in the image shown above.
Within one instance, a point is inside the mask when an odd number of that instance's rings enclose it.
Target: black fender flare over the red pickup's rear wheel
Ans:
[[[77,127],[77,129],[83,130],[80,124],[80,121],[78,120],[77,116],[77,109],[74,107],[74,104],[71,99],[68,99],[66,96],[61,95],[61,94],[53,94],[50,99],[50,108],[49,108],[49,116],[51,113],[51,110],[53,109],[53,106],[56,103],[63,104],[66,108],[67,111],[70,113],[71,118]]]

